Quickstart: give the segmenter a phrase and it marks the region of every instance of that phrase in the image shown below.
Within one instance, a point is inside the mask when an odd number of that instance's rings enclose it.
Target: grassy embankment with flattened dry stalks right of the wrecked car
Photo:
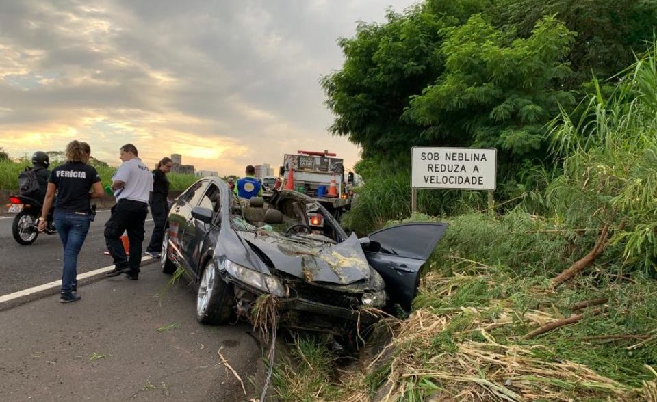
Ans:
[[[275,368],[278,397],[657,401],[655,94],[648,57],[614,94],[582,103],[581,120],[554,120],[563,172],[504,214],[463,202],[441,219],[450,228],[411,316],[383,321],[379,346],[347,369],[320,340],[298,340],[292,362]],[[369,181],[359,202],[372,208],[346,222],[367,232],[408,216],[402,186]]]

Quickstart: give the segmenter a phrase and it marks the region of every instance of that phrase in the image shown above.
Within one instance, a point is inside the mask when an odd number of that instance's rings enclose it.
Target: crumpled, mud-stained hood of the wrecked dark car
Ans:
[[[238,234],[271,260],[275,269],[306,282],[350,284],[370,278],[370,265],[356,235],[338,244],[276,232]]]

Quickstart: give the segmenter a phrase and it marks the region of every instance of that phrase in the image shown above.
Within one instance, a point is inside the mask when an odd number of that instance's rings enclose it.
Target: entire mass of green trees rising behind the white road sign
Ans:
[[[494,146],[517,174],[547,155],[542,127],[569,106],[569,91],[645,49],[654,3],[426,0],[385,23],[360,23],[339,40],[342,69],[322,79],[331,132],[362,146],[365,159],[408,158],[411,146]]]

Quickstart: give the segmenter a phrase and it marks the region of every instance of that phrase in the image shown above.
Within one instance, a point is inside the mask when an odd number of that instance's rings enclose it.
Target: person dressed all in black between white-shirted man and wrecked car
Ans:
[[[164,226],[169,212],[169,180],[166,174],[171,172],[173,161],[169,157],[162,158],[153,170],[153,193],[151,195],[151,216],[153,217],[153,235],[146,254],[153,258],[159,258],[162,250],[162,238],[164,237]]]

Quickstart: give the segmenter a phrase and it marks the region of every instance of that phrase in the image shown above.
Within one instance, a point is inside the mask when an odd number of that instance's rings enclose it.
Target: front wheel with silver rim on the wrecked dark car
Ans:
[[[233,317],[233,285],[222,280],[213,260],[205,265],[196,293],[196,320],[202,324],[226,324]]]

